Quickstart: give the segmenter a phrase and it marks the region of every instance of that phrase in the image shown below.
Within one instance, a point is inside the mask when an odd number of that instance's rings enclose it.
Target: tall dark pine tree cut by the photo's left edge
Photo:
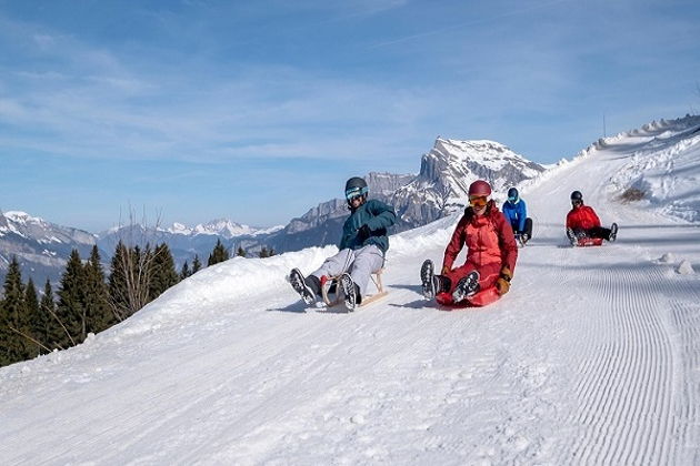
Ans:
[[[0,366],[23,361],[30,353],[29,341],[20,334],[28,332],[28,323],[22,273],[16,256],[12,256],[4,277],[3,296],[0,303]]]

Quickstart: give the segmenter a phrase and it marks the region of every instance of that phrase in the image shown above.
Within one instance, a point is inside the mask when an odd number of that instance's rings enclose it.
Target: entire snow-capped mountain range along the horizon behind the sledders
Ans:
[[[422,155],[418,174],[371,172],[366,180],[370,197],[394,206],[398,221],[393,233],[398,233],[463,209],[469,184],[477,179],[488,180],[496,195],[502,197],[509,186],[532,180],[546,170],[498,142],[438,138]],[[24,277],[31,276],[36,283],[47,278],[56,283],[72,249],[87,257],[97,244],[107,262],[120,240],[128,244],[164,242],[178,266],[184,261],[191,264],[196,254],[206,263],[217,241],[232,253],[243,247],[249,254],[257,254],[262,247],[288,252],[336,244],[348,214],[346,201],[333,199],[311,207],[284,226],[271,229],[218,219],[192,227],[182,223],[169,227],[134,223],[92,234],[23,212],[0,212],[0,278],[16,255]]]

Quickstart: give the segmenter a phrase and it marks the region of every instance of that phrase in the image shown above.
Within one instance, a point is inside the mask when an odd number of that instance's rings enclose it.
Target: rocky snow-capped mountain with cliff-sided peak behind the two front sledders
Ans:
[[[370,197],[396,209],[399,220],[393,232],[398,233],[463,209],[469,184],[474,180],[488,180],[494,195],[504,197],[509,186],[533,180],[544,171],[544,166],[498,142],[438,138],[432,150],[422,156],[418,175],[372,172],[366,180]],[[334,244],[347,215],[346,202],[334,199],[309,210],[293,219],[284,230],[260,241],[276,251]]]

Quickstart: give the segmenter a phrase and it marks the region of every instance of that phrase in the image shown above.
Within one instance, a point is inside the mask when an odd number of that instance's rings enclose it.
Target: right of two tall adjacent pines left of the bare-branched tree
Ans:
[[[104,270],[97,245],[92,246],[90,260],[83,267],[84,292],[83,308],[86,315],[84,340],[88,333],[99,333],[116,323],[109,306],[107,284],[104,283]]]

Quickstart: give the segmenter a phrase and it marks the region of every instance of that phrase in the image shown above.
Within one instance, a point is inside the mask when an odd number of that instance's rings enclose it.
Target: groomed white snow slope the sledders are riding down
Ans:
[[[392,236],[389,296],[353,314],[284,281],[331,246],[208,267],[0,369],[0,464],[700,464],[700,276],[676,272],[700,270],[700,225],[610,181],[658,156],[611,138],[529,186],[534,237],[486,308],[420,294],[456,216]],[[574,189],[616,243],[567,246]]]

